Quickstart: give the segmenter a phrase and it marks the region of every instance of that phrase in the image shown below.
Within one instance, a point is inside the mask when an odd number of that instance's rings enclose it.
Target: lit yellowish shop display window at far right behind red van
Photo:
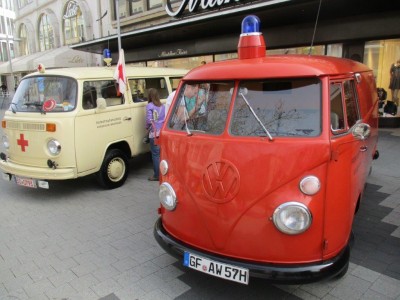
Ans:
[[[400,59],[400,39],[365,43],[363,62],[374,71],[377,87],[388,91],[389,100],[392,98],[389,93],[390,67],[398,59]]]

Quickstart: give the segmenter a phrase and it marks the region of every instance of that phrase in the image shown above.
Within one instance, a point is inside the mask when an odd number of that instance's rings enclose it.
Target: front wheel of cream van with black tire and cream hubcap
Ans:
[[[103,164],[97,172],[98,182],[106,189],[115,189],[124,184],[129,173],[128,158],[119,149],[106,152]]]

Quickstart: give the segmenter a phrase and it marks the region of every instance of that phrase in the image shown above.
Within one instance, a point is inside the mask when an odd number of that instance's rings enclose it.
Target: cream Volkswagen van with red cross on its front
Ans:
[[[96,173],[112,189],[128,176],[128,159],[149,151],[143,144],[147,90],[160,98],[186,70],[127,67],[124,95],[114,67],[65,68],[27,75],[2,120],[3,178],[27,187],[49,188],[48,180]]]

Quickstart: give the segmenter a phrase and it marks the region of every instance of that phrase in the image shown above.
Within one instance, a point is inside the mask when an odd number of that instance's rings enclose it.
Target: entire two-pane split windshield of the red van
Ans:
[[[321,133],[321,82],[317,78],[239,82],[187,82],[168,120],[189,135],[314,137]],[[233,96],[235,98],[233,99]]]

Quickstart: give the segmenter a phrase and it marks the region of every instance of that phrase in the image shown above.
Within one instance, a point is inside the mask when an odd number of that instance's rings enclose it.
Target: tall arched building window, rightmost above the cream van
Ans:
[[[85,21],[75,1],[69,1],[63,15],[65,44],[71,45],[85,40]]]

